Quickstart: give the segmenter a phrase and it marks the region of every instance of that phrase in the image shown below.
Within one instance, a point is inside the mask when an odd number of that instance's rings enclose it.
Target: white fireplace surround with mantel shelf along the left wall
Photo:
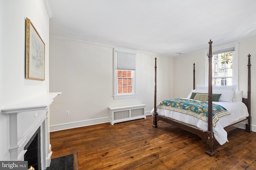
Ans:
[[[40,127],[41,168],[50,166],[52,149],[50,145],[50,104],[61,92],[42,94],[24,102],[1,109],[9,115],[10,160],[24,160],[25,145]]]

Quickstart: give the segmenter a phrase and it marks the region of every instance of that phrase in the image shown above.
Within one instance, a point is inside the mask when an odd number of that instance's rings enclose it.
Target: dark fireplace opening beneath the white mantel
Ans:
[[[41,141],[40,141],[40,127],[36,130],[34,135],[28,141],[24,150],[24,160],[28,161],[28,168],[33,166],[35,170],[41,170]]]

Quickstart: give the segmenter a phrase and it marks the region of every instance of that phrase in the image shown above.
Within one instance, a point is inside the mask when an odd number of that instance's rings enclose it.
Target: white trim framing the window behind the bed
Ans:
[[[219,51],[222,49],[228,49],[234,47],[233,51],[233,77],[232,77],[232,85],[237,84],[236,90],[238,90],[238,43],[231,43],[226,45],[220,45],[217,47],[212,47],[212,51]],[[208,60],[208,54],[209,50],[205,50],[205,64],[204,64],[204,84],[205,86],[208,86],[208,72],[209,72],[209,60]]]

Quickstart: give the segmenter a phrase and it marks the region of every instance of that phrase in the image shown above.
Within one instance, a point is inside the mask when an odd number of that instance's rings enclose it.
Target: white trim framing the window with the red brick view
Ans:
[[[117,86],[117,69],[116,69],[116,52],[117,51],[121,51],[121,52],[125,52],[125,53],[132,53],[135,54],[135,60],[136,60],[136,52],[134,51],[130,51],[127,49],[116,49],[113,48],[113,58],[114,58],[114,99],[128,99],[128,98],[136,98],[137,94],[136,94],[136,70],[132,70],[133,71],[133,78],[132,78],[132,94],[128,93],[128,94],[118,94],[118,86]]]

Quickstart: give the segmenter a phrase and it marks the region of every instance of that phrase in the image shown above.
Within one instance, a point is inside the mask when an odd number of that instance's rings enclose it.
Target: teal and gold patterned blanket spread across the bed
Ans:
[[[159,102],[156,107],[186,113],[208,122],[208,102],[187,99],[169,99]],[[215,127],[219,117],[229,114],[229,111],[224,107],[218,104],[212,104],[212,125]]]

